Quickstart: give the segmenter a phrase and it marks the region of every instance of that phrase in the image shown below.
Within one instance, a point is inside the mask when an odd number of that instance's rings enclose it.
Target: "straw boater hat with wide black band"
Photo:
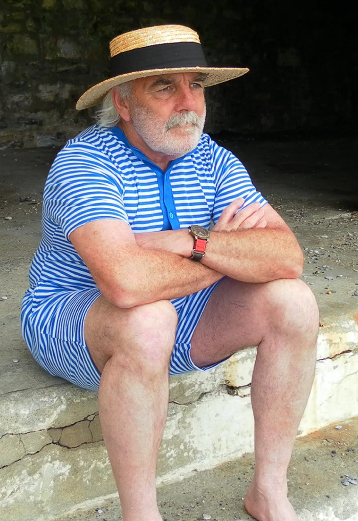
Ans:
[[[193,29],[178,25],[146,27],[114,38],[110,44],[111,78],[88,89],[77,110],[100,103],[116,85],[136,78],[175,72],[204,72],[205,87],[242,76],[249,69],[208,67]]]

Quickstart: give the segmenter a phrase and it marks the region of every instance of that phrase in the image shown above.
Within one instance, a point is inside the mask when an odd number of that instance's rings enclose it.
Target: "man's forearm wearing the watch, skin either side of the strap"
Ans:
[[[147,250],[166,250],[189,258],[194,238],[187,229],[136,235]],[[193,261],[191,261],[192,264]],[[244,282],[299,277],[303,256],[285,224],[265,228],[212,231],[201,264]]]

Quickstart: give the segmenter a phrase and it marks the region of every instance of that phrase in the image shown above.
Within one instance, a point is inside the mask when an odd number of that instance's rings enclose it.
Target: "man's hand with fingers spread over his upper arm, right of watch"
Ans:
[[[266,228],[265,212],[260,203],[252,203],[241,208],[244,199],[239,197],[223,209],[214,231],[249,230],[250,228]]]

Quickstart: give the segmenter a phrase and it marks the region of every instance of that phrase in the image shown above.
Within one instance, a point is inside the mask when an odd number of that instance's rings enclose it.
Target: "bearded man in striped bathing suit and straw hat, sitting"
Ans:
[[[161,519],[168,367],[207,370],[258,345],[245,506],[260,521],[297,521],[286,471],[312,385],[317,307],[292,232],[239,160],[202,134],[203,87],[247,69],[208,67],[182,26],[110,45],[112,78],[77,105],[106,96],[100,125],[68,142],[46,182],[24,338],[50,373],[99,386],[124,521]]]

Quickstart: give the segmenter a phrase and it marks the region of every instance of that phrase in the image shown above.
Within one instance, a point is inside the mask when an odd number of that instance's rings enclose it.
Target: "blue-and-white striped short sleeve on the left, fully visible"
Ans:
[[[120,172],[92,145],[66,146],[46,181],[43,217],[59,226],[67,239],[93,220],[120,219],[129,224]]]

